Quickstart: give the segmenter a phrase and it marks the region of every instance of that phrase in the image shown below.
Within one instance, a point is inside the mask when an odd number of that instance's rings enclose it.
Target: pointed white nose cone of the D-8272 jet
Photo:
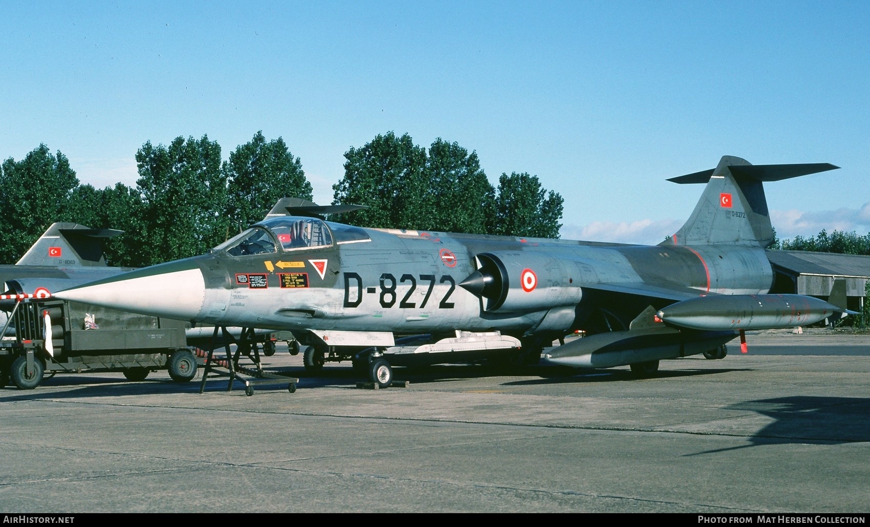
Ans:
[[[54,296],[184,321],[202,311],[205,280],[197,259],[192,258],[118,274],[58,291]]]

